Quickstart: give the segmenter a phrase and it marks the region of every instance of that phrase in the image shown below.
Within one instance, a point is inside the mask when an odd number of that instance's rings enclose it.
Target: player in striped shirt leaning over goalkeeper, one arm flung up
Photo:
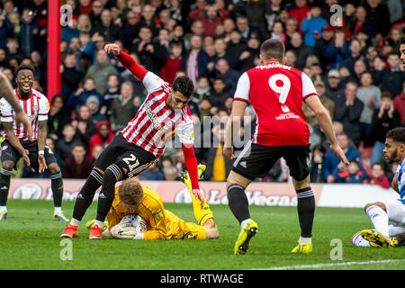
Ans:
[[[118,58],[148,90],[148,96],[128,125],[94,163],[94,169],[77,194],[73,217],[60,237],[77,236],[77,228],[85,211],[93,202],[95,191],[102,186],[98,196],[97,216],[89,238],[101,239],[103,221],[114,198],[115,184],[138,175],[155,163],[175,134],[182,143],[185,166],[193,186],[193,202],[203,206],[203,196],[198,183],[197,160],[193,151],[193,121],[188,101],[193,94],[193,82],[186,76],[175,78],[173,85],[166,83],[124,53],[116,44],[104,47],[107,53]]]

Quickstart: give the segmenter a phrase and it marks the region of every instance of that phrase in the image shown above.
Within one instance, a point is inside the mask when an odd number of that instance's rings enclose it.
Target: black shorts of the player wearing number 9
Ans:
[[[236,158],[232,170],[250,180],[255,180],[257,177],[264,177],[281,157],[284,157],[294,180],[302,181],[310,174],[311,149],[309,145],[264,146],[251,142],[247,143]]]

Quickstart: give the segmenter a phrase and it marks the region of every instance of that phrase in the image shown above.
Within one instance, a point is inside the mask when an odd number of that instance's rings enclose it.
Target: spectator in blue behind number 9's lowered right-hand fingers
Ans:
[[[363,165],[360,162],[360,154],[356,150],[355,147],[349,144],[349,140],[347,138],[347,134],[340,133],[337,136],[339,146],[345,151],[345,155],[348,161],[357,160],[361,167]],[[336,181],[336,175],[334,175],[335,170],[338,168],[340,163],[340,158],[338,156],[333,155],[332,150],[328,149],[323,166],[323,176],[326,179],[327,183],[334,183]],[[361,170],[365,170],[362,168]]]

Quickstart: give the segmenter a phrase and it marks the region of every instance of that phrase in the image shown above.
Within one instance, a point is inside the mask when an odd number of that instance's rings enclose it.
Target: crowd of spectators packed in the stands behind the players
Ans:
[[[146,97],[144,86],[103,46],[117,43],[171,83],[189,76],[195,127],[205,116],[229,115],[238,77],[260,64],[266,39],[282,40],[286,65],[311,77],[329,110],[350,166],[329,150],[315,116],[311,181],[389,187],[395,165],[383,157],[388,130],[405,125],[405,72],[399,53],[404,1],[389,0],[66,0],[73,16],[61,27],[61,93],[52,95],[47,144],[64,178],[85,178],[114,134]],[[341,10],[333,9],[338,4]],[[331,8],[332,7],[332,8]],[[47,2],[0,0],[0,69],[14,81],[21,64],[35,68],[34,88],[47,94]],[[340,12],[340,13],[339,13]],[[49,95],[47,95],[49,97]],[[247,107],[254,130],[255,113]],[[216,133],[214,133],[214,130]],[[211,133],[223,143],[224,125]],[[203,141],[204,135],[196,138]],[[201,147],[201,146],[200,146]],[[195,148],[205,179],[225,181],[232,166],[219,147]],[[17,165],[15,176],[39,177]],[[141,179],[175,180],[185,169],[181,148],[167,148]],[[284,160],[258,181],[290,181]]]

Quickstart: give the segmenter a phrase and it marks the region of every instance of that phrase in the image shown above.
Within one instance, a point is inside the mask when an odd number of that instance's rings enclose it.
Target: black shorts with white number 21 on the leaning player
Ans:
[[[115,136],[94,162],[103,171],[115,164],[121,170],[121,179],[130,178],[154,164],[157,158],[138,145],[128,142],[122,134]]]

